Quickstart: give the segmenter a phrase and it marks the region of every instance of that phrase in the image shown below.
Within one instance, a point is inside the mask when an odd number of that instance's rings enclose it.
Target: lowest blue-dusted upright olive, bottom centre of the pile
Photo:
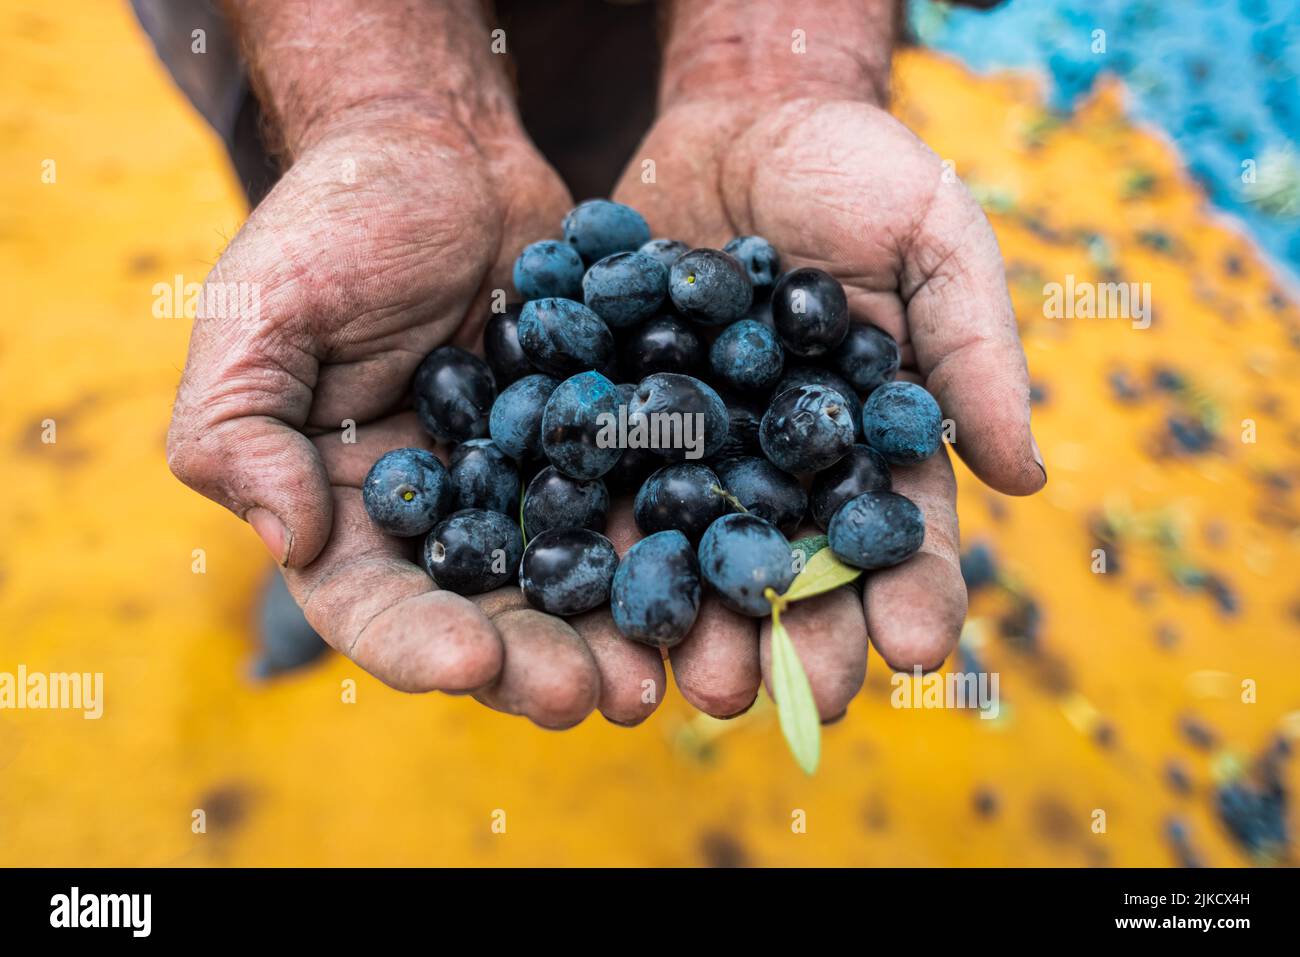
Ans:
[[[677,531],[646,536],[623,557],[610,589],[619,632],[653,648],[673,648],[699,614],[699,560]]]

